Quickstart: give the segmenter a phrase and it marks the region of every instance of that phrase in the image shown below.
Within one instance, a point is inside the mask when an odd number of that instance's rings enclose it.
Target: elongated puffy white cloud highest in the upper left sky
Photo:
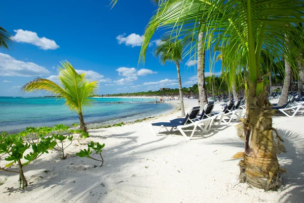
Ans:
[[[33,44],[43,50],[52,49],[55,50],[59,48],[54,40],[47,39],[45,37],[39,38],[36,32],[23,30],[23,29],[15,29],[16,35],[13,36],[13,39],[16,42],[23,42],[28,44]]]

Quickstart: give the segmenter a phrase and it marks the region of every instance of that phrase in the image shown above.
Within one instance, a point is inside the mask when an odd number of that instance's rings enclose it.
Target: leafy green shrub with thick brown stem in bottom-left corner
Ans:
[[[6,161],[11,161],[0,170],[19,174],[20,187],[24,189],[27,187],[27,180],[23,173],[24,166],[28,165],[33,160],[39,158],[44,153],[49,153],[48,150],[53,149],[56,142],[53,138],[45,138],[40,143],[25,143],[20,134],[11,134],[3,132],[0,134],[0,157],[6,156]],[[31,148],[31,152],[23,156],[27,149]],[[24,158],[26,162],[22,163],[21,159]],[[19,171],[11,171],[7,168],[11,167],[14,163],[18,164]]]

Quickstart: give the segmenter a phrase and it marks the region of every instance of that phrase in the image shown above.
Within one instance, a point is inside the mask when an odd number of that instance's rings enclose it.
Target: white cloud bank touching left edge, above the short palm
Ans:
[[[46,76],[49,74],[50,72],[47,69],[33,62],[16,60],[8,54],[0,53],[1,76],[36,77]]]

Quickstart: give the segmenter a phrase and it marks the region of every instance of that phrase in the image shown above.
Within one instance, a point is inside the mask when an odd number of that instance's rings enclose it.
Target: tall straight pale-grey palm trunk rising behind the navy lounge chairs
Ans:
[[[201,109],[208,104],[206,84],[205,84],[205,50],[204,50],[204,32],[199,33],[198,44],[198,86],[201,101]]]

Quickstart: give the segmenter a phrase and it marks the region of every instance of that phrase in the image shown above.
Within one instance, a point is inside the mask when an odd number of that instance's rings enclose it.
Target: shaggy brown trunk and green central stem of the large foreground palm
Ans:
[[[234,158],[243,157],[243,160],[239,162],[240,179],[243,182],[265,190],[276,190],[281,186],[282,170],[276,155],[279,152],[277,140],[273,135],[271,116],[274,114],[274,110],[269,109],[271,104],[267,96],[268,92],[263,90],[262,77],[258,72],[262,41],[260,40],[256,44],[254,40],[251,0],[247,0],[247,26],[249,50],[249,78],[246,90],[247,116],[246,120],[239,125],[239,132],[245,132],[245,150],[244,153],[236,154]]]

